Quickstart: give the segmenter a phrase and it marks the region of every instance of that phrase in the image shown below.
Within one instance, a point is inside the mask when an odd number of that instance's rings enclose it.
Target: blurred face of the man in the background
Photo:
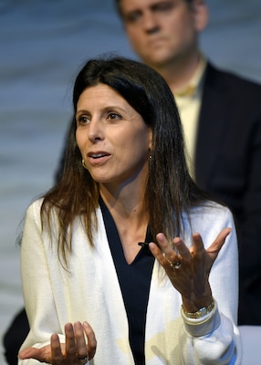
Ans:
[[[186,0],[120,0],[131,47],[144,63],[161,67],[196,47],[193,5]]]

